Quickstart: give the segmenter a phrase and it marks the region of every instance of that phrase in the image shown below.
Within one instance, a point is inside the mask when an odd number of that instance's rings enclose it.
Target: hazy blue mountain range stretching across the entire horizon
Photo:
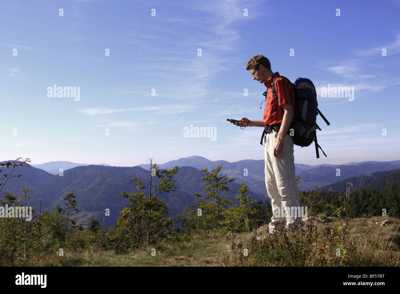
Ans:
[[[6,162],[6,161],[4,161]],[[4,163],[3,162],[3,163]],[[182,214],[191,202],[194,202],[194,193],[204,195],[204,186],[201,177],[203,168],[210,171],[219,164],[223,165],[221,174],[236,178],[228,184],[230,197],[237,194],[241,182],[247,182],[249,192],[254,200],[270,200],[264,182],[264,160],[240,160],[228,162],[224,160],[211,161],[201,156],[190,156],[160,164],[160,168],[173,168],[180,166],[175,175],[177,191],[169,195],[158,195],[169,208],[170,215]],[[108,164],[87,165],[73,162],[48,162],[40,165],[18,167],[14,174],[21,177],[10,178],[0,193],[12,192],[14,195],[21,192],[21,188],[33,189],[28,193],[28,205],[35,205],[39,210],[42,200],[42,210],[52,209],[62,204],[65,194],[73,192],[77,195],[79,212],[77,220],[87,225],[90,217],[97,217],[105,226],[115,223],[119,211],[126,205],[127,199],[119,196],[120,192],[137,192],[131,181],[133,174],[146,178],[149,176],[150,165],[141,164],[133,167],[110,166]],[[40,167],[40,168],[38,168]],[[45,171],[46,168],[48,171]],[[58,175],[58,169],[63,168],[63,176]],[[350,162],[347,164],[332,165],[321,164],[311,166],[296,164],[296,176],[300,176],[299,190],[313,190],[316,185],[321,190],[344,191],[346,182],[351,181],[354,188],[364,187],[367,184],[374,186],[374,180],[390,176],[388,183],[399,177],[396,169],[400,168],[400,160],[390,162]],[[338,175],[340,170],[340,176]],[[51,171],[56,170],[52,174]],[[395,171],[393,171],[395,170]],[[391,172],[389,172],[391,171]],[[3,167],[2,174],[8,170]],[[338,180],[343,179],[343,180]],[[110,217],[104,216],[104,210],[110,209]],[[172,208],[172,209],[171,209]]]

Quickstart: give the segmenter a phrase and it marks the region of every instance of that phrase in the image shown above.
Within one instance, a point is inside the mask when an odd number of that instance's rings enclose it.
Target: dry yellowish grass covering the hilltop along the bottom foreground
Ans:
[[[254,232],[238,234],[234,239],[236,246],[232,248],[232,242],[224,234],[211,232],[209,234],[196,235],[190,242],[174,243],[161,242],[154,246],[156,255],[151,255],[152,248],[132,250],[126,254],[115,254],[113,251],[86,251],[68,252],[64,251],[64,256],[56,254],[44,258],[36,257],[28,260],[24,265],[27,266],[284,266],[284,265],[335,265],[332,260],[338,260],[336,256],[327,256],[328,250],[320,250],[326,247],[331,230],[334,229],[337,218],[329,217],[331,222],[323,223],[326,217],[317,216],[315,224],[317,226],[318,237],[312,244],[303,244],[301,248],[299,237],[288,233],[288,238],[276,239],[276,243],[256,242],[252,244]],[[376,222],[389,220],[387,226],[379,226]],[[328,221],[329,221],[328,220]],[[307,222],[304,222],[307,224]],[[348,249],[348,260],[342,265],[386,265],[398,266],[400,262],[400,232],[398,226],[400,220],[390,217],[355,218],[350,220],[347,243],[353,244]],[[262,236],[268,231],[268,224],[258,229],[258,235]],[[395,234],[396,232],[396,234]],[[253,240],[254,242],[254,240]],[[271,241],[272,242],[272,241]],[[287,244],[286,244],[286,243]],[[375,243],[376,242],[376,243]],[[347,244],[346,243],[346,244]],[[273,247],[269,247],[269,244]],[[303,246],[302,245],[302,246]],[[256,247],[255,247],[256,246]],[[285,251],[285,246],[290,246],[293,251],[305,251],[307,255],[305,264],[294,264],[290,258],[290,252]],[[311,249],[314,247],[314,249]],[[346,246],[343,246],[345,248]],[[239,252],[243,249],[251,250],[257,248],[259,254],[253,252],[253,256],[240,256]],[[273,253],[270,250],[273,248]],[[280,248],[280,249],[279,249]],[[289,248],[289,247],[288,247]],[[316,249],[315,249],[316,248]],[[324,248],[325,249],[325,248]],[[292,252],[294,255],[299,252]],[[332,255],[332,254],[331,254]],[[350,256],[352,255],[352,256]],[[315,257],[315,258],[314,258]],[[341,257],[340,257],[341,258]],[[329,264],[323,264],[329,260]],[[320,264],[318,264],[320,263]],[[321,264],[322,263],[322,264]]]

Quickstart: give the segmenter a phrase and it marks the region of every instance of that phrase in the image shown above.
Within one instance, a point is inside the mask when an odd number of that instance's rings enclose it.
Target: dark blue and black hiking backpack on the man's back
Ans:
[[[290,80],[284,76],[277,76],[272,81],[271,87],[272,93],[276,98],[276,107],[278,107],[278,94],[276,94],[274,83],[277,78],[285,78],[290,82]],[[315,86],[307,78],[297,78],[294,84],[292,82],[290,82],[290,84],[292,84],[293,86],[295,104],[294,120],[289,127],[289,131],[293,129],[293,144],[301,147],[307,147],[310,146],[311,143],[314,141],[317,158],[320,158],[318,148],[320,148],[322,153],[324,153],[324,155],[326,156],[324,150],[322,150],[321,146],[318,145],[317,142],[316,129],[318,128],[318,130],[321,130],[321,128],[316,123],[316,116],[319,113],[328,126],[330,125],[330,123],[328,122],[328,120],[326,120],[325,116],[318,109],[318,102],[316,98],[317,92]],[[265,97],[267,97],[267,92],[268,90],[263,93]]]

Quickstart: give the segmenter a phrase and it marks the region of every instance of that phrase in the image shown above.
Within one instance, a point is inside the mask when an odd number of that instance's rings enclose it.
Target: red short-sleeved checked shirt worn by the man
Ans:
[[[275,72],[268,78],[268,80],[264,83],[267,87],[267,96],[265,99],[265,108],[264,108],[264,125],[275,125],[282,124],[283,120],[283,108],[281,107],[283,104],[292,105],[294,112],[294,91],[292,84],[286,80],[285,78],[277,78],[275,80],[275,91],[278,94],[278,107],[276,107],[276,99],[274,94],[272,93],[271,84],[274,78],[279,76],[279,72]],[[276,108],[276,111],[274,112]],[[292,123],[294,121],[294,116],[292,118]]]

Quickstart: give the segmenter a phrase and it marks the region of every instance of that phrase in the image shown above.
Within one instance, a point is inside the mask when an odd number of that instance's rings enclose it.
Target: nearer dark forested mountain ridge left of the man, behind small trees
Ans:
[[[7,172],[8,170],[3,168],[3,173]],[[90,217],[94,216],[99,219],[102,225],[108,227],[116,222],[119,211],[125,207],[128,201],[126,198],[120,197],[119,194],[122,191],[127,193],[137,192],[131,180],[133,174],[146,179],[149,176],[149,171],[139,166],[88,165],[64,170],[64,175],[59,176],[58,174],[49,174],[33,166],[30,168],[20,166],[16,169],[15,174],[22,174],[22,176],[10,178],[0,192],[0,197],[4,196],[6,192],[18,195],[22,187],[33,189],[28,193],[30,196],[28,206],[35,205],[38,209],[40,200],[42,200],[42,210],[50,210],[58,204],[62,205],[64,202],[62,198],[67,193],[73,192],[76,194],[78,202],[77,220],[88,225]],[[194,193],[204,195],[202,176],[204,176],[204,173],[196,168],[180,167],[178,174],[174,177],[177,191],[170,195],[158,195],[168,205],[170,214],[171,202],[176,216],[182,214],[184,208],[194,202]],[[240,181],[228,183],[229,192],[226,194],[230,197],[236,196],[240,183]],[[266,200],[267,197],[267,195],[258,194],[251,190],[247,194],[250,194],[253,200]],[[106,208],[110,209],[110,217],[104,216]]]

